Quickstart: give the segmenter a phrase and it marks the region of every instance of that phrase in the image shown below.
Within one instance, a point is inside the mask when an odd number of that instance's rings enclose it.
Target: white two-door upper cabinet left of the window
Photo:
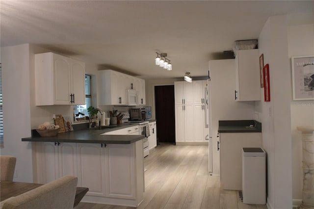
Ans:
[[[85,63],[52,52],[35,54],[35,103],[85,104]]]

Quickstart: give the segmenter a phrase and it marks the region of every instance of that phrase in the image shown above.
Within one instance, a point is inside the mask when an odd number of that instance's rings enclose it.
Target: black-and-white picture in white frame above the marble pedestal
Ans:
[[[291,57],[293,100],[314,100],[314,55]]]

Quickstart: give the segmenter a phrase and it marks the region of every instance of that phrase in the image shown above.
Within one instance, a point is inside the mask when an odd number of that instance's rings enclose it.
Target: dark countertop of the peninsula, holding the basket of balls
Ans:
[[[101,135],[108,131],[119,130],[136,124],[117,124],[105,127],[103,130],[78,130],[65,133],[58,133],[54,137],[41,137],[33,130],[31,137],[22,138],[22,141],[34,142],[71,142],[71,143],[99,143],[99,144],[131,144],[144,139],[144,135]]]

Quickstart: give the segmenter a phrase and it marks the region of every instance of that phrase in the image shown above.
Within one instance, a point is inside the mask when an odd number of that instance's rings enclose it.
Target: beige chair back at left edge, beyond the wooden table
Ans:
[[[0,156],[0,181],[13,181],[16,157]]]

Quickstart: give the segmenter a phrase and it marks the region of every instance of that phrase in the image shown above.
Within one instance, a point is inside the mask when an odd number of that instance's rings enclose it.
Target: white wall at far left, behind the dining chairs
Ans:
[[[1,48],[3,94],[3,145],[1,155],[17,157],[16,182],[32,182],[30,136],[29,45]]]

